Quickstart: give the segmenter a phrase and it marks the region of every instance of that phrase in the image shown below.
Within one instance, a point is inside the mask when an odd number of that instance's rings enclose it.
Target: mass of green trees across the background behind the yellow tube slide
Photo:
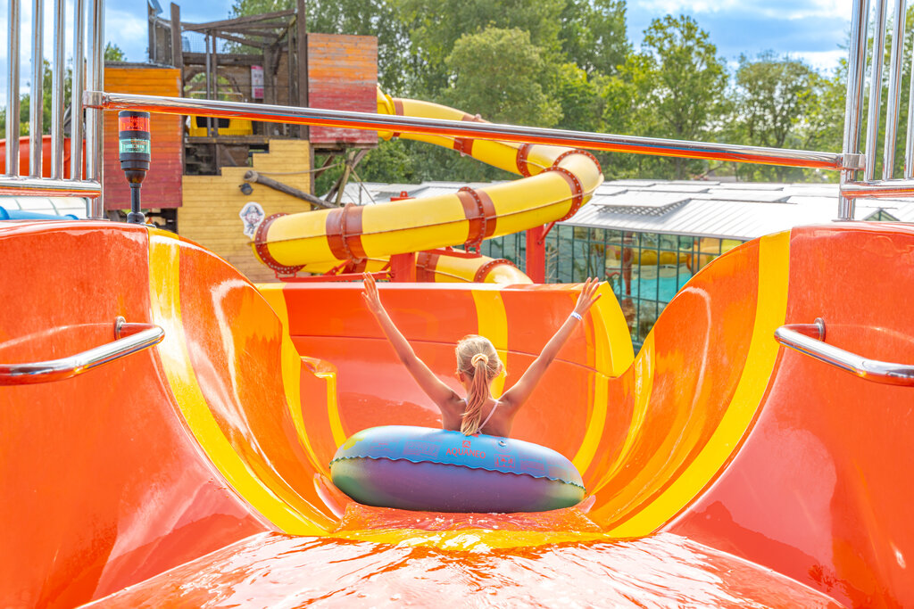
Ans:
[[[235,0],[232,15],[294,5],[294,0]],[[655,19],[635,48],[625,35],[625,0],[309,0],[307,6],[309,31],[377,36],[378,80],[388,93],[438,101],[488,121],[841,148],[846,69],[824,76],[800,61],[765,53],[740,58],[729,85],[731,75],[717,47],[688,16]],[[914,47],[912,11],[906,57]],[[906,117],[902,103],[902,124]],[[711,169],[753,180],[836,177],[622,152],[597,156],[608,179],[685,178]],[[316,191],[329,189],[339,171],[325,172]],[[391,183],[512,178],[453,151],[398,140],[381,142],[356,173]]]

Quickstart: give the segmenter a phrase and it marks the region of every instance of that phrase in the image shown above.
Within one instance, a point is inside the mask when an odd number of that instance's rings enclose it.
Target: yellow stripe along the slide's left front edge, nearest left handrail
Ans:
[[[153,316],[165,329],[158,352],[165,376],[182,415],[213,465],[250,507],[278,529],[295,535],[322,535],[326,531],[305,520],[254,475],[228,443],[209,410],[190,363],[181,319],[181,245],[175,236],[152,231],[149,236],[149,290]]]

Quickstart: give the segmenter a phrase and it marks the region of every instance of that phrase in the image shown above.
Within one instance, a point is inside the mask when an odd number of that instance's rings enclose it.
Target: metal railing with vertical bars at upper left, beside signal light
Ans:
[[[71,0],[73,7],[73,46],[71,50],[73,81],[70,110],[70,173],[64,178],[64,79],[67,72],[66,30],[67,0],[53,0],[54,52],[51,62],[51,104],[50,104],[50,163],[44,166],[43,125],[44,103],[41,83],[44,82],[44,0],[33,0],[31,63],[32,87],[29,91],[28,116],[28,171],[23,172],[19,163],[19,112],[21,79],[19,45],[22,27],[21,0],[9,0],[9,22],[7,24],[7,98],[6,98],[6,171],[0,175],[0,194],[38,194],[50,196],[90,197],[89,217],[103,215],[101,200],[101,110],[87,110],[86,127],[83,128],[82,92],[85,89],[83,64],[88,66],[89,85],[92,89],[103,88],[104,73],[104,0]],[[90,14],[90,26],[86,26],[86,12]],[[88,58],[85,37],[90,37]],[[82,174],[82,140],[86,135],[86,174]]]

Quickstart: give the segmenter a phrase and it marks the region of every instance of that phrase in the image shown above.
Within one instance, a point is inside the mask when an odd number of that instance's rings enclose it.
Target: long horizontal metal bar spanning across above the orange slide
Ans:
[[[300,125],[341,127],[369,131],[398,131],[473,137],[505,142],[531,142],[561,146],[577,146],[608,152],[634,152],[712,161],[761,163],[810,169],[860,169],[858,154],[813,152],[763,146],[666,140],[590,131],[542,129],[492,122],[445,121],[408,116],[391,116],[373,112],[324,110],[292,106],[243,103],[238,101],[191,100],[188,98],[132,95],[87,90],[83,96],[86,108],[101,110],[143,110],[160,114],[193,114],[250,121],[284,122]]]

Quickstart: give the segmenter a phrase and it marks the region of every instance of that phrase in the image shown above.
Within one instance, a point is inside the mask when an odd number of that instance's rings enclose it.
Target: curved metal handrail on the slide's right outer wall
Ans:
[[[774,331],[774,338],[785,347],[809,355],[820,362],[829,363],[867,381],[914,387],[914,366],[870,360],[827,344],[824,341],[825,322],[822,318],[816,319],[815,323],[781,326]]]

